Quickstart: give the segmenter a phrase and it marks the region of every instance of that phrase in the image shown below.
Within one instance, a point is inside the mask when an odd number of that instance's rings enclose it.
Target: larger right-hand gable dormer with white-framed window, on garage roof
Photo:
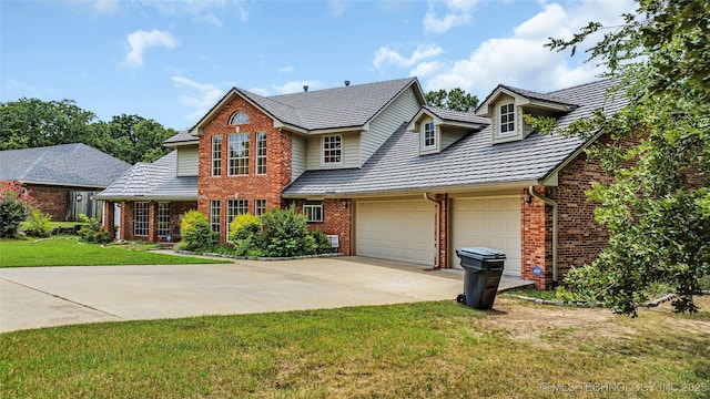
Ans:
[[[565,99],[499,84],[476,109],[476,115],[490,117],[493,144],[500,144],[532,133],[524,115],[558,117],[575,108]]]

